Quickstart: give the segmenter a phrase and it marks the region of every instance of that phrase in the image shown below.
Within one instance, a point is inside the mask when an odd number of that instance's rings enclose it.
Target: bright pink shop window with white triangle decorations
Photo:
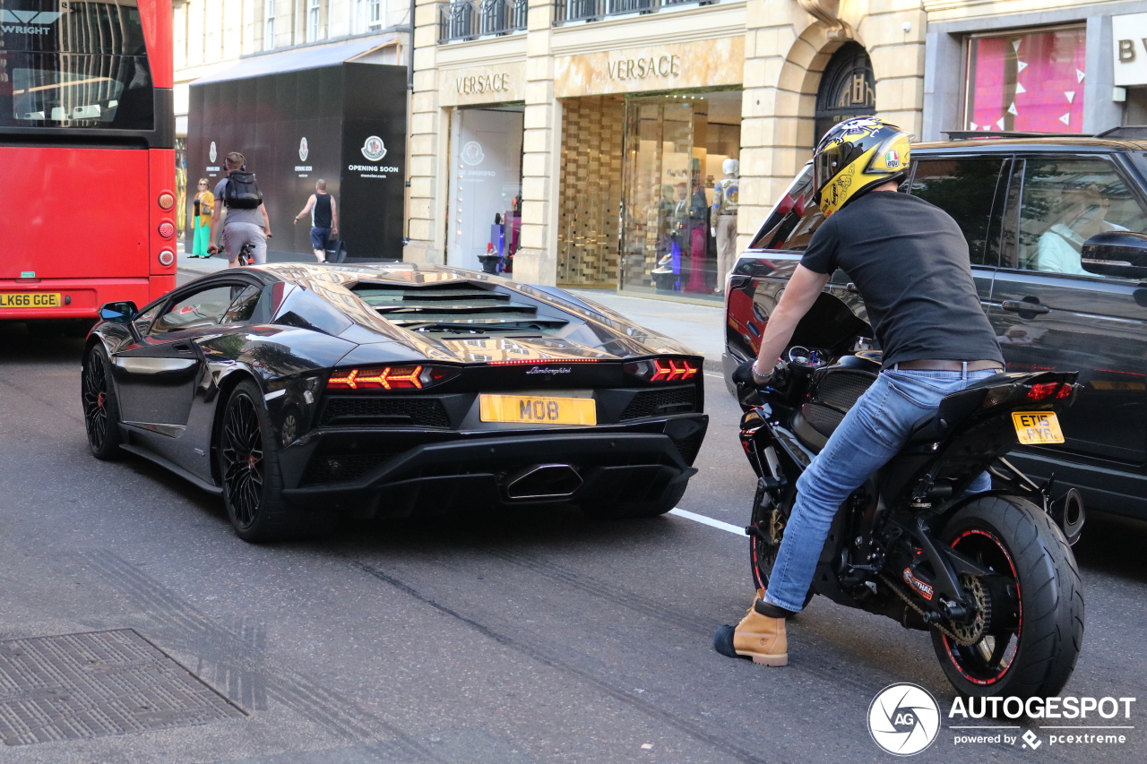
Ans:
[[[1085,53],[1082,26],[970,38],[966,128],[1080,132]]]

